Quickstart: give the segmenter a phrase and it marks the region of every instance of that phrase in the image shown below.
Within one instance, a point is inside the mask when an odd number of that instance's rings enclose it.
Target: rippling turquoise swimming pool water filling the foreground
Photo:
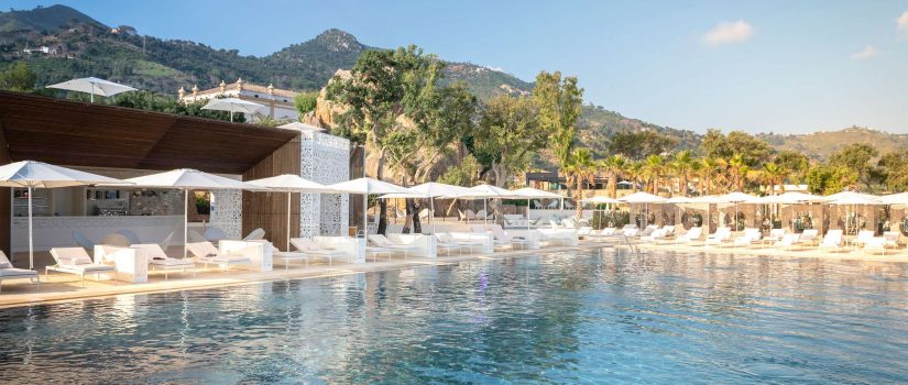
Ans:
[[[905,383],[906,267],[606,249],[21,307],[0,382]]]

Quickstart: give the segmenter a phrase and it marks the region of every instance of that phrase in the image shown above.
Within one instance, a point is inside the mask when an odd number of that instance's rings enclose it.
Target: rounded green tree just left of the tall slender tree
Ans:
[[[474,147],[504,187],[513,173],[524,170],[530,156],[548,143],[549,129],[540,128],[537,107],[525,97],[500,95],[481,112]]]

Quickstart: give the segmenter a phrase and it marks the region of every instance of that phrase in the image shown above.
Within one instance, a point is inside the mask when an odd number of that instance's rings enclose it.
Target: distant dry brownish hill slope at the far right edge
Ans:
[[[851,127],[841,131],[821,131],[809,134],[758,134],[776,150],[791,150],[814,160],[827,160],[830,154],[852,143],[867,143],[880,154],[908,150],[908,134],[893,134],[867,128]]]

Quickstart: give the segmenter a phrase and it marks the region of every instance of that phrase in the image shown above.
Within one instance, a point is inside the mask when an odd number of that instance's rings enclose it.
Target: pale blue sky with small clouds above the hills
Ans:
[[[338,28],[526,80],[558,69],[578,76],[588,101],[698,132],[908,133],[908,0],[61,2],[251,55]]]

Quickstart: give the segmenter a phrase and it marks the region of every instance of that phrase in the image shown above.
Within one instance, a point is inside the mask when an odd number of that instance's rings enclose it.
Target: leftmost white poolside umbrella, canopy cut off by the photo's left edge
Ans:
[[[123,184],[123,180],[85,173],[51,164],[22,161],[0,166],[0,186],[25,187],[29,194],[29,268],[34,268],[32,234],[32,191],[35,188],[57,188],[98,184]]]

